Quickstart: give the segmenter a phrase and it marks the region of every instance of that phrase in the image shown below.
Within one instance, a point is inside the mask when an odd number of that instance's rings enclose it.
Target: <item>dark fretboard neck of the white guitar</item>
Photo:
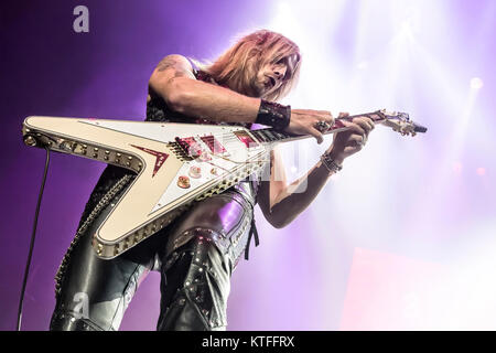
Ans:
[[[334,120],[333,127],[331,127],[323,135],[345,131],[348,128],[343,124],[343,121],[344,120],[352,121],[354,118],[358,118],[358,117],[368,117],[368,118],[373,119],[374,122],[380,122],[380,121],[385,120],[385,117],[379,115],[377,111],[358,114],[358,115],[347,116],[344,118],[337,118]],[[257,140],[260,143],[289,142],[289,141],[302,140],[302,139],[308,139],[310,137],[313,137],[312,135],[291,135],[291,133],[287,133],[287,132],[281,132],[281,131],[274,130],[273,128],[252,130],[250,132],[257,138]]]

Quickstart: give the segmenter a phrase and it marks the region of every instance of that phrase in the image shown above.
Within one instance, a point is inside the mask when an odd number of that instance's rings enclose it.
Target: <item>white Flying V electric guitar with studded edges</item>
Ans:
[[[342,120],[368,116],[402,135],[425,132],[405,113],[378,110],[336,119],[324,133],[346,129]],[[28,117],[28,146],[127,168],[137,178],[94,234],[100,258],[114,258],[170,224],[192,202],[220,193],[260,170],[274,143],[310,136],[239,126]]]

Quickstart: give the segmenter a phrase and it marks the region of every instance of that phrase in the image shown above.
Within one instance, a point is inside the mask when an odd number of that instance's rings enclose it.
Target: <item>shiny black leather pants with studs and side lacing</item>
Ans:
[[[230,275],[249,239],[251,196],[230,190],[208,197],[138,246],[104,260],[91,247],[91,234],[120,194],[72,244],[57,278],[50,329],[118,330],[141,280],[160,270],[158,330],[225,330]]]

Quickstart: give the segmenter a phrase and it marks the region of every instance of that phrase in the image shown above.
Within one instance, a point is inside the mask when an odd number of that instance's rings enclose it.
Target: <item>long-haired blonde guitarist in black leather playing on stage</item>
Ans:
[[[300,67],[296,44],[266,30],[240,39],[211,65],[181,55],[165,56],[150,77],[147,120],[247,127],[255,122],[312,135],[321,143],[321,131],[334,122],[330,111],[274,103],[294,85]],[[158,330],[225,330],[231,272],[244,252],[248,257],[252,234],[258,244],[251,226],[254,205],[258,203],[277,228],[293,221],[343,161],[363,148],[374,129],[369,118],[344,124],[349,129],[335,135],[320,162],[303,178],[288,184],[281,159],[272,151],[266,178],[255,175],[195,203],[170,226],[111,260],[96,256],[91,234],[134,175],[107,167],[56,275],[51,330],[118,330],[150,270],[161,274]]]

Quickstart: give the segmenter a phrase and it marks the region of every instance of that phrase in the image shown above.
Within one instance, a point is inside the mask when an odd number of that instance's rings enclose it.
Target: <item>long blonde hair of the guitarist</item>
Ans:
[[[254,71],[248,69],[248,60],[258,56],[255,60]],[[236,44],[229,47],[212,64],[202,64],[197,61],[200,69],[209,74],[219,85],[226,85],[237,92],[247,92],[252,89],[254,73],[258,73],[268,62],[278,62],[281,58],[291,57],[292,66],[288,67],[288,77],[276,92],[271,93],[266,99],[278,100],[284,97],[294,84],[300,74],[301,53],[300,49],[282,34],[259,30],[251,34],[240,38]],[[247,87],[248,86],[248,87]]]

